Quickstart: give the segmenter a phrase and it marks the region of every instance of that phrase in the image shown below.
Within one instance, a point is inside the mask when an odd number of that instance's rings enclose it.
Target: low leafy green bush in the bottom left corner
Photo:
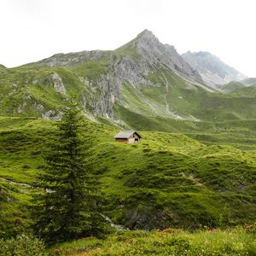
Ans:
[[[0,255],[41,256],[44,255],[44,242],[32,235],[19,235],[9,240],[0,239]]]

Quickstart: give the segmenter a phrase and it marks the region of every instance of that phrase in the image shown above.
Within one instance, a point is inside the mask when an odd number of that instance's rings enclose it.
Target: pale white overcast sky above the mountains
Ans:
[[[256,0],[0,0],[0,63],[116,49],[147,28],[181,54],[207,50],[256,77]]]

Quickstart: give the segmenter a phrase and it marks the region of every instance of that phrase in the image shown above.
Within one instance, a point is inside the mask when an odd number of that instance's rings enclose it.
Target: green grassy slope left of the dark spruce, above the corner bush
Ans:
[[[91,131],[101,129],[91,125]],[[112,128],[113,129],[113,128]],[[41,170],[44,143],[55,131],[52,121],[35,118],[0,117],[0,236],[29,231],[29,205]],[[108,128],[102,130],[108,134]],[[95,140],[96,143],[96,140]],[[15,182],[15,183],[13,183]]]

